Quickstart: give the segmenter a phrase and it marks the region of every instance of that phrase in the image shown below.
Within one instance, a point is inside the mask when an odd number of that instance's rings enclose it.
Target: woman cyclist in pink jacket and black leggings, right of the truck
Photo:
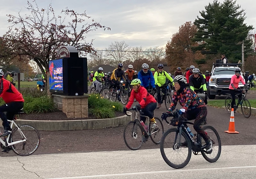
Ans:
[[[236,69],[235,70],[235,74],[231,77],[231,81],[230,81],[230,85],[229,85],[229,91],[230,91],[230,94],[232,96],[232,102],[231,102],[231,108],[234,108],[234,105],[235,105],[235,100],[236,100],[236,89],[240,89],[238,87],[238,83],[241,82],[244,87],[248,87],[247,84],[245,84],[242,76],[240,75],[241,74],[241,70],[240,69]],[[239,99],[242,97],[242,93],[240,93],[238,95]],[[236,109],[234,108],[234,111],[236,111]]]

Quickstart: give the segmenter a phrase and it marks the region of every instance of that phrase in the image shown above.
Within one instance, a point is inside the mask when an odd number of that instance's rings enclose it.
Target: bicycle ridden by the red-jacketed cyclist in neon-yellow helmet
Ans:
[[[135,119],[134,121],[130,121],[128,124],[126,124],[124,128],[123,136],[126,146],[131,150],[138,150],[142,143],[146,143],[146,141],[148,141],[148,137],[151,138],[153,143],[160,144],[162,134],[164,133],[162,121],[155,117],[156,127],[151,129],[151,121],[149,120],[149,117],[144,116],[143,113],[138,111],[136,105],[127,111],[134,111]],[[146,117],[145,128],[142,126],[140,120],[138,119],[138,113],[140,113],[139,116]],[[131,116],[127,113],[125,114],[127,116]]]

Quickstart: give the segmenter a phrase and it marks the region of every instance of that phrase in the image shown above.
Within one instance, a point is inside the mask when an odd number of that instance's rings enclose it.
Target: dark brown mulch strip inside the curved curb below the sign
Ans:
[[[116,112],[116,117],[123,116],[124,113]],[[53,113],[31,113],[31,114],[20,114],[17,119],[25,120],[39,120],[39,121],[70,121],[70,120],[89,120],[97,119],[89,113],[88,118],[67,118],[66,114],[62,111],[56,111]]]

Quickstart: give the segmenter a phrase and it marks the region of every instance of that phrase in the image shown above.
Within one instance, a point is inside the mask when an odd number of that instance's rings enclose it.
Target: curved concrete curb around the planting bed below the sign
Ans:
[[[119,116],[111,119],[90,119],[90,120],[69,120],[69,121],[38,121],[38,120],[22,120],[17,119],[16,124],[30,125],[36,130],[45,131],[62,131],[62,130],[86,130],[86,129],[103,129],[126,125],[132,121],[132,113],[127,112],[131,116]],[[2,125],[0,125],[2,127]]]

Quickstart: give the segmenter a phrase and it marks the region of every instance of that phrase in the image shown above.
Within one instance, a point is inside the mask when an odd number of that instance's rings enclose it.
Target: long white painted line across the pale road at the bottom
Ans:
[[[79,178],[95,178],[95,177],[111,177],[111,176],[125,176],[125,175],[144,175],[144,174],[158,174],[158,173],[172,173],[172,172],[190,172],[190,171],[204,171],[204,170],[222,170],[222,169],[239,169],[239,168],[256,168],[256,166],[244,167],[221,167],[221,168],[198,168],[198,169],[176,169],[169,171],[155,171],[155,172],[138,172],[138,173],[124,173],[124,174],[108,174],[108,175],[88,175],[88,176],[74,176],[63,178],[47,178],[47,179],[79,179]]]

